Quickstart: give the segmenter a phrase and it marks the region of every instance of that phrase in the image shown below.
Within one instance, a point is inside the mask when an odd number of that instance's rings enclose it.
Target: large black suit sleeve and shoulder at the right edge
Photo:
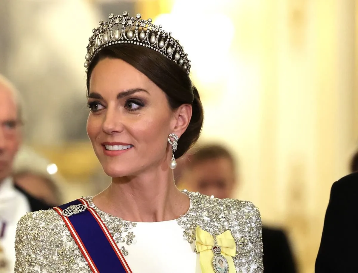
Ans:
[[[358,272],[358,173],[335,182],[319,247],[315,272]]]

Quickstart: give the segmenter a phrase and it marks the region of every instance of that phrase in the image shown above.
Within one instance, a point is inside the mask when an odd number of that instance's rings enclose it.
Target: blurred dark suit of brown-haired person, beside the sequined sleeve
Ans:
[[[280,229],[262,227],[263,273],[295,273],[289,242]]]

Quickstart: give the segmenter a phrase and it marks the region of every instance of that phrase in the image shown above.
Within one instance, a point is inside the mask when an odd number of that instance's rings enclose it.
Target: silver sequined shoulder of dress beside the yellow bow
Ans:
[[[256,206],[250,201],[184,192],[191,201],[189,211],[177,220],[184,238],[193,243],[197,226],[216,235],[229,230],[236,243],[236,272],[262,273],[262,222]]]

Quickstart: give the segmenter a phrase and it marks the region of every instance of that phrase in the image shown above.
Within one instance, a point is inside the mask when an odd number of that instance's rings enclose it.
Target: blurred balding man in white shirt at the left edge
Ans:
[[[0,75],[0,243],[5,260],[0,264],[13,272],[16,223],[21,216],[50,206],[14,186],[13,161],[22,140],[22,108],[19,92]]]

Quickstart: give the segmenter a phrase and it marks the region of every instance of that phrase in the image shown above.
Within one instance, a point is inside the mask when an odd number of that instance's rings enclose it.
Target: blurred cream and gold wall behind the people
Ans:
[[[330,187],[357,144],[357,1],[1,0],[0,73],[23,94],[26,144],[57,165],[64,201],[110,182],[87,140],[83,62],[92,28],[123,10],[184,45],[202,140],[239,157],[237,197],[286,227],[300,272],[313,272]]]

